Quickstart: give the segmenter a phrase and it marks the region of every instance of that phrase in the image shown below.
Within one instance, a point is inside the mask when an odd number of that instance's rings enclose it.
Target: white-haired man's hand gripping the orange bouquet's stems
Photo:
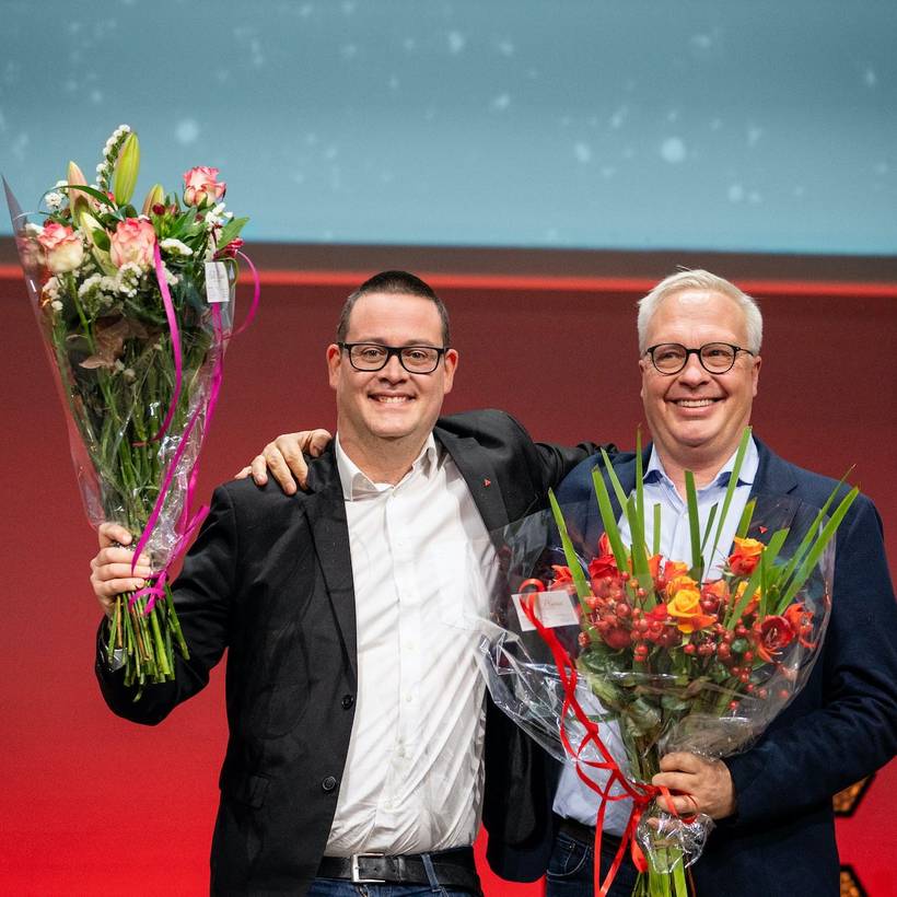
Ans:
[[[661,771],[652,784],[665,785],[669,800],[680,816],[706,813],[711,819],[723,819],[735,812],[735,789],[732,776],[722,760],[708,760],[696,754],[678,752],[661,758]],[[667,808],[666,800],[657,799]]]

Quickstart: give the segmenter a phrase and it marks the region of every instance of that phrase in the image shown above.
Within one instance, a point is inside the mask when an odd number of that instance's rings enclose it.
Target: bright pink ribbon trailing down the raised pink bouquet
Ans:
[[[256,312],[258,311],[258,302],[261,295],[261,284],[258,278],[258,271],[256,270],[255,265],[253,265],[252,260],[248,256],[244,255],[243,253],[238,253],[241,258],[245,259],[246,264],[249,266],[249,269],[253,272],[253,281],[254,281],[254,290],[253,290],[253,301],[249,305],[249,311],[246,313],[246,318],[243,324],[240,326],[238,329],[233,330],[232,333],[225,333],[224,326],[221,319],[221,307],[217,303],[212,304],[212,327],[214,331],[214,342],[213,349],[215,353],[214,363],[212,366],[212,377],[211,377],[211,387],[209,389],[209,398],[206,403],[205,411],[206,411],[206,430],[202,433],[202,440],[205,441],[206,436],[209,432],[209,426],[211,423],[212,415],[214,412],[215,405],[218,404],[218,397],[221,393],[221,383],[224,376],[224,348],[226,346],[228,340],[232,336],[236,336],[237,334],[242,334],[246,327],[252,324],[253,319],[255,318]],[[168,318],[168,326],[171,327],[172,331],[172,354],[174,356],[174,363],[175,363],[175,391],[172,397],[172,404],[168,407],[168,412],[165,416],[165,420],[155,436],[154,440],[161,439],[163,433],[167,430],[168,426],[171,424],[172,418],[174,417],[174,412],[177,406],[177,403],[180,397],[180,384],[183,378],[183,362],[182,362],[182,354],[180,354],[180,335],[177,329],[177,321],[174,311],[174,303],[172,302],[172,295],[168,290],[168,284],[165,280],[165,269],[162,267],[162,257],[159,252],[159,244],[155,244],[154,251],[155,257],[155,276],[159,281],[159,290],[162,294],[162,302],[165,306],[165,315]],[[155,528],[156,523],[159,522],[159,517],[162,514],[162,508],[165,504],[165,499],[167,498],[168,490],[171,489],[172,482],[174,481],[175,474],[177,471],[177,465],[180,462],[180,458],[184,456],[184,453],[187,451],[187,446],[189,445],[189,436],[193,432],[194,427],[196,426],[197,421],[199,420],[200,416],[202,415],[203,407],[200,404],[197,408],[194,409],[194,412],[190,415],[189,420],[187,421],[187,426],[184,428],[184,433],[178,440],[177,449],[175,450],[174,457],[168,463],[168,467],[165,471],[165,478],[162,481],[162,486],[159,490],[159,496],[156,497],[155,504],[153,505],[152,513],[150,514],[149,520],[147,521],[147,525],[143,527],[143,533],[140,536],[140,539],[137,543],[137,548],[135,548],[133,557],[131,558],[131,573],[133,573],[135,568],[137,567],[137,560],[140,557],[141,551],[149,543],[153,529]],[[180,514],[180,519],[175,526],[175,532],[178,532],[180,535],[178,536],[177,543],[175,544],[174,550],[171,554],[168,562],[162,569],[162,571],[154,578],[154,581],[148,584],[145,587],[135,592],[129,599],[129,606],[133,606],[133,603],[144,595],[148,595],[149,598],[147,601],[147,610],[145,613],[149,614],[153,607],[155,607],[156,601],[164,597],[165,595],[165,581],[167,580],[168,568],[174,563],[175,559],[180,555],[180,552],[186,547],[189,539],[193,537],[196,529],[206,520],[206,516],[209,513],[209,505],[203,504],[196,514],[190,514],[190,506],[193,504],[194,493],[196,491],[196,482],[199,477],[199,459],[197,458],[196,464],[194,464],[193,470],[190,471],[190,478],[187,482],[187,493],[184,499],[184,511]]]

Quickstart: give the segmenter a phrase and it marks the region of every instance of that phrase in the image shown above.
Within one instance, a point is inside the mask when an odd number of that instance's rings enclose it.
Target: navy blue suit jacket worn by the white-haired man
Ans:
[[[769,532],[792,524],[800,532],[795,516],[805,515],[806,505],[822,506],[835,481],[789,464],[759,441],[757,447],[754,519]],[[649,453],[650,446],[645,463]],[[558,491],[562,503],[583,502],[575,523],[592,550],[603,532],[592,484],[594,466],[594,458],[580,464]],[[634,455],[617,455],[614,468],[624,489],[631,490]],[[804,689],[760,741],[725,759],[737,812],[718,824],[692,866],[697,893],[836,897],[839,862],[831,797],[895,753],[897,603],[881,519],[873,503],[860,496],[837,536],[832,609],[822,654]],[[533,877],[534,861],[547,862],[552,837],[549,824],[540,844],[514,858],[521,877]]]

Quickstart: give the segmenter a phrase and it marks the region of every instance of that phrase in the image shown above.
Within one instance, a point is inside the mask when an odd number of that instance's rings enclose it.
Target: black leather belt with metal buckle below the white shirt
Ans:
[[[469,847],[431,853],[439,884],[446,888],[481,894],[474,850]],[[318,878],[346,878],[358,884],[427,885],[427,867],[419,853],[384,857],[381,853],[356,853],[352,857],[324,857],[317,867]]]

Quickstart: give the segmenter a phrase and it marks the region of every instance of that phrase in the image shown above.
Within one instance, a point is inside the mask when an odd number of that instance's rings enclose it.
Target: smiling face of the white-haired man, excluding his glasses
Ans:
[[[738,304],[722,293],[683,290],[665,299],[651,318],[645,345],[706,342],[747,346],[747,325]],[[732,370],[709,374],[697,356],[678,374],[662,374],[642,356],[642,401],[661,456],[686,467],[725,464],[750,420],[760,358],[738,352]]]

